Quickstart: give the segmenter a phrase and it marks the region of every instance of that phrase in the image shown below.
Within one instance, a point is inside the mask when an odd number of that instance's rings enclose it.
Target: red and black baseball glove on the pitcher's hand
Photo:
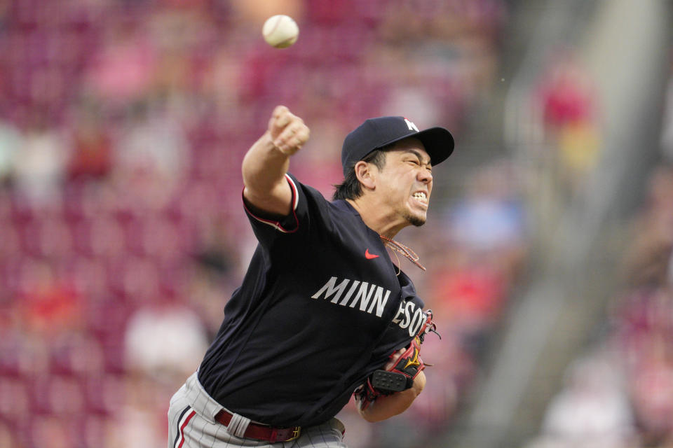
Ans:
[[[433,322],[433,311],[428,309],[425,314],[426,322],[400,357],[386,369],[375,370],[364,384],[355,389],[355,399],[360,402],[361,410],[367,409],[381,395],[392,395],[411,388],[414,379],[426,368],[426,363],[423,363],[420,356],[421,344],[429,332],[435,332],[437,335],[439,333],[436,331],[437,325]],[[396,353],[390,354],[391,360],[395,358]]]

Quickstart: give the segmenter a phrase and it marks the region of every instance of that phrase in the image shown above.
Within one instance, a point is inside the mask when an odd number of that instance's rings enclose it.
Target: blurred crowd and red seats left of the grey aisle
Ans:
[[[299,23],[290,49],[261,40],[276,13]],[[165,447],[168,400],[254,249],[240,162],[273,106],[311,127],[291,171],[331,197],[365,118],[460,139],[506,18],[504,0],[0,1],[0,446]],[[442,335],[428,391],[403,421],[349,405],[353,448],[447,427],[519,278],[515,169],[465,179],[404,241]]]

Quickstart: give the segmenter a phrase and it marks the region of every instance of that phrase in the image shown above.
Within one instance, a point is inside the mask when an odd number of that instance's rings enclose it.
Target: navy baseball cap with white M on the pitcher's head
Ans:
[[[430,163],[437,165],[454,152],[454,137],[444,127],[419,128],[404,117],[369,118],[344,139],[341,148],[341,166],[352,167],[372,151],[396,141],[414,137],[419,139],[430,155]]]

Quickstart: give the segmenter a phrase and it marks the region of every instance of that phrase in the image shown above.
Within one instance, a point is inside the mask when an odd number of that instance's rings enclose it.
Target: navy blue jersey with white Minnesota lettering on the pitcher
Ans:
[[[412,281],[351,204],[287,181],[289,216],[246,209],[259,244],[198,379],[232,412],[311,426],[336,415],[425,316]]]

